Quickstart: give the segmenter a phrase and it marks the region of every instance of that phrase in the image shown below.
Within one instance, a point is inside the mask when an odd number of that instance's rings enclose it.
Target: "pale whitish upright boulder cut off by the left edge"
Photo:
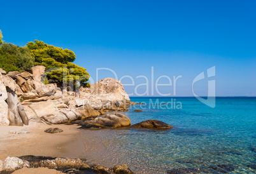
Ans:
[[[3,76],[0,72],[0,125],[9,125],[10,123],[8,119],[8,104],[5,102],[7,97],[8,95],[3,83]]]

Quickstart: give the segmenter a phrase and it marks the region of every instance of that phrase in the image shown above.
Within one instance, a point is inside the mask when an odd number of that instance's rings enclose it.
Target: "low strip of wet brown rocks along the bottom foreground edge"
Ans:
[[[85,159],[71,157],[20,156],[7,157],[0,160],[0,173],[11,173],[20,168],[49,168],[63,173],[124,173],[132,174],[126,164],[106,168],[96,164],[88,164]]]

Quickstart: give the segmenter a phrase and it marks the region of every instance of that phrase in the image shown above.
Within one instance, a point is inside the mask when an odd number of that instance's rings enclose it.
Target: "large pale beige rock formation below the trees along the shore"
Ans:
[[[63,124],[97,117],[110,110],[127,111],[127,107],[135,104],[117,79],[102,79],[75,93],[61,91],[55,84],[43,84],[45,67],[39,65],[31,71],[32,74],[13,71],[1,75],[0,124],[22,126],[29,120]],[[107,116],[104,119],[108,119]],[[119,124],[112,126],[119,127]]]

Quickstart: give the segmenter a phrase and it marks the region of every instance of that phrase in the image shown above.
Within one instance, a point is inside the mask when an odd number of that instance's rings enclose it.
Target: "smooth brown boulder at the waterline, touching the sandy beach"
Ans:
[[[106,114],[102,117],[96,117],[96,119],[84,121],[83,123],[78,124],[82,126],[80,128],[124,128],[131,126],[131,120],[129,117],[124,116],[123,114],[116,113]]]

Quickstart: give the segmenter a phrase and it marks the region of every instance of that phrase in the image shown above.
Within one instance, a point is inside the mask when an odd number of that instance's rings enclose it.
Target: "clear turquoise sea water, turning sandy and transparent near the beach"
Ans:
[[[174,128],[95,131],[98,140],[109,146],[101,154],[101,164],[127,164],[139,173],[195,168],[210,173],[256,172],[256,98],[217,98],[214,109],[196,98],[175,98],[182,109],[154,105],[156,101],[171,102],[171,98],[131,100],[146,103],[125,112],[132,124],[158,119]],[[133,112],[135,109],[143,112]]]

